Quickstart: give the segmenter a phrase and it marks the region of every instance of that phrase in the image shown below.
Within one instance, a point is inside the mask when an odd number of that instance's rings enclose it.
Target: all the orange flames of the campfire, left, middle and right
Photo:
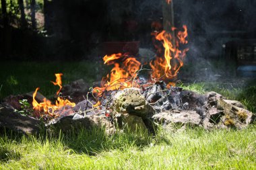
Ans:
[[[178,30],[177,28],[172,28],[172,31]],[[110,71],[106,77],[102,78],[100,87],[94,87],[92,91],[88,92],[87,100],[92,104],[92,110],[107,110],[107,105],[111,105],[113,100],[113,95],[122,91],[123,89],[136,87],[141,89],[141,93],[144,93],[150,102],[156,102],[152,95],[158,95],[161,92],[167,92],[173,89],[174,82],[172,78],[177,77],[179,69],[183,66],[183,60],[188,48],[183,50],[179,49],[180,44],[187,44],[187,26],[183,26],[183,30],[177,31],[177,35],[172,37],[170,33],[162,30],[161,32],[152,32],[154,38],[154,46],[156,47],[156,58],[150,62],[150,79],[141,77],[139,73],[144,70],[141,62],[138,61],[139,58],[135,58],[131,54],[119,53],[106,55],[103,57],[104,65],[113,65],[113,69]],[[43,102],[38,103],[35,96],[39,88],[36,88],[33,94],[33,109],[36,115],[47,115],[49,118],[57,118],[61,116],[60,110],[63,108],[74,108],[75,103],[61,97],[62,81],[61,76],[63,74],[57,73],[56,82],[52,83],[59,86],[57,91],[57,100],[55,104],[51,103],[50,100],[44,98]],[[162,81],[162,82],[161,82]],[[161,84],[162,89],[154,87],[154,85]],[[167,84],[167,87],[165,83]],[[150,90],[149,90],[150,89]],[[159,91],[158,91],[159,90]],[[146,91],[151,91],[146,93]],[[150,94],[149,94],[150,93]],[[166,95],[167,93],[165,93]],[[86,105],[88,108],[88,105]],[[108,114],[106,114],[108,115]]]

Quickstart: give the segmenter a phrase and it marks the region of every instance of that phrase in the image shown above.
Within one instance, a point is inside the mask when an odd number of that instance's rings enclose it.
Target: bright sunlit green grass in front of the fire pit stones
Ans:
[[[14,135],[15,136],[15,135]],[[0,169],[255,169],[256,126],[160,130],[156,136],[102,130],[0,137]]]

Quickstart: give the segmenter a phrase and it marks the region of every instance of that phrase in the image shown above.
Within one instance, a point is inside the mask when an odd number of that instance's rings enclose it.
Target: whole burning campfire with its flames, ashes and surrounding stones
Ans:
[[[108,134],[125,127],[148,132],[156,124],[210,129],[243,128],[253,122],[253,114],[239,101],[175,86],[174,79],[189,50],[187,26],[172,28],[172,32],[175,36],[165,30],[152,32],[156,57],[148,65],[129,53],[104,56],[104,65],[113,69],[100,85],[86,91],[83,80],[62,85],[63,74],[55,74],[52,83],[59,86],[55,103],[45,97],[38,101],[36,88],[32,94],[33,116],[43,118],[47,127],[58,125],[63,131],[71,126],[104,126]]]

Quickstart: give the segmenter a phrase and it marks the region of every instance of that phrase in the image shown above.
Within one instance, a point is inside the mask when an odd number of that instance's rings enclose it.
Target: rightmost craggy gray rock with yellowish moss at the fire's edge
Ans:
[[[212,91],[206,93],[207,112],[203,127],[209,128],[245,128],[255,121],[253,113],[245,110],[245,106],[235,100],[228,100]]]

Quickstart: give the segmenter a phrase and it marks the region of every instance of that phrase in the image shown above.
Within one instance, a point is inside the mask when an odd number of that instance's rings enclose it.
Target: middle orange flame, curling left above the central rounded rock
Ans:
[[[122,58],[124,61],[122,65],[116,61],[117,59]],[[101,95],[104,91],[125,89],[132,87],[132,81],[130,79],[136,77],[137,71],[141,63],[136,60],[136,58],[129,58],[127,54],[112,54],[110,56],[106,55],[103,58],[104,64],[111,65],[114,64],[113,69],[110,71],[110,74],[102,78],[101,87],[95,87],[93,93]],[[96,105],[99,105],[97,103]]]

